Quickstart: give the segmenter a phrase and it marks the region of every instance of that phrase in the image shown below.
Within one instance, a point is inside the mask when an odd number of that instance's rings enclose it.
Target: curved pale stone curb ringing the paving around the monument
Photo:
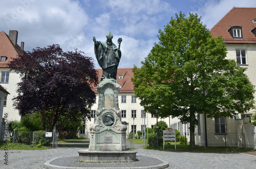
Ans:
[[[75,157],[75,156],[71,156],[71,157]],[[105,168],[120,168],[120,166],[118,167],[68,167],[68,166],[57,166],[57,165],[53,165],[50,164],[52,161],[58,159],[58,158],[63,158],[63,157],[56,157],[53,158],[47,162],[44,163],[44,167],[47,169],[105,169]],[[152,166],[136,166],[136,167],[122,167],[122,169],[139,169],[139,168],[143,168],[143,169],[160,169],[160,168],[166,168],[169,166],[169,163],[165,160],[156,158],[156,157],[151,157],[151,158],[155,158],[158,159],[160,161],[162,161],[162,164],[158,164],[158,165],[152,165]]]

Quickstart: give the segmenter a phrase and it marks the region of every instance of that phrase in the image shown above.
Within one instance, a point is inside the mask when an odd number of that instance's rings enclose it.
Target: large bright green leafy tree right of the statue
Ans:
[[[191,147],[195,147],[197,114],[233,117],[253,107],[254,86],[246,68],[225,59],[223,38],[213,38],[201,17],[176,14],[159,30],[158,38],[141,68],[133,68],[135,95],[143,99],[145,111],[154,114],[160,107],[158,116],[189,123]]]

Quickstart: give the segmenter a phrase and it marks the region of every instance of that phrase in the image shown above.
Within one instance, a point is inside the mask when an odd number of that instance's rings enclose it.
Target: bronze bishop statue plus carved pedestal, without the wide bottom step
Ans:
[[[121,111],[118,105],[118,93],[121,86],[116,80],[117,67],[121,58],[119,46],[113,42],[113,35],[109,32],[106,41],[94,41],[96,59],[103,70],[101,81],[97,86],[99,92],[98,108],[94,124],[90,126],[89,151],[124,151],[126,150],[126,129],[121,122]]]

